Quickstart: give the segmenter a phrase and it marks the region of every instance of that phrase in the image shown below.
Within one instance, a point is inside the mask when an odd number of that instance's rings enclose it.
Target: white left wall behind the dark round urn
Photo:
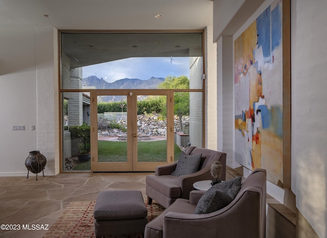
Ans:
[[[59,172],[55,161],[57,99],[57,35],[53,27],[0,27],[0,85],[2,116],[0,174],[27,174],[29,151],[39,150],[48,160],[44,174]],[[57,90],[57,91],[56,91]],[[12,126],[25,126],[12,131]],[[36,130],[31,130],[36,126]]]

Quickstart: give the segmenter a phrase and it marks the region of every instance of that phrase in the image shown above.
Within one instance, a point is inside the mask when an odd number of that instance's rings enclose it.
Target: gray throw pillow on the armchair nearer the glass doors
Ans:
[[[198,171],[202,154],[198,155],[186,155],[185,152],[181,152],[177,161],[176,169],[172,175],[181,176],[193,174]]]

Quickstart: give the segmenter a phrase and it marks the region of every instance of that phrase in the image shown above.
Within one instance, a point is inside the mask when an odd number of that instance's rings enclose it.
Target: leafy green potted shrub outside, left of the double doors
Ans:
[[[90,127],[83,123],[81,126],[72,126],[69,128],[72,139],[78,138],[78,159],[88,161],[90,159]]]

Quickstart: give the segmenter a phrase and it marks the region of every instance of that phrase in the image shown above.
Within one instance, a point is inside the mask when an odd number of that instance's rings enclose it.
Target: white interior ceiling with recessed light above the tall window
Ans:
[[[154,18],[158,13],[164,16]],[[0,0],[0,26],[168,30],[204,29],[212,23],[211,0]]]

